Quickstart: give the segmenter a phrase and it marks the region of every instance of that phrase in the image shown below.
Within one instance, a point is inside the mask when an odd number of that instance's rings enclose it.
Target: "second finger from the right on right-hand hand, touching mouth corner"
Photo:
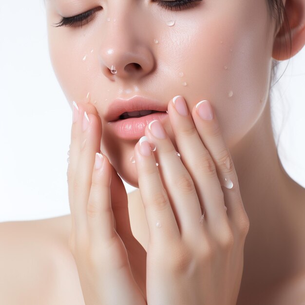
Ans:
[[[179,114],[176,109],[185,109],[186,115]],[[182,96],[172,99],[168,112],[175,142],[195,184],[199,201],[205,212],[205,221],[219,231],[219,225],[228,225],[229,220],[214,161],[198,134]]]

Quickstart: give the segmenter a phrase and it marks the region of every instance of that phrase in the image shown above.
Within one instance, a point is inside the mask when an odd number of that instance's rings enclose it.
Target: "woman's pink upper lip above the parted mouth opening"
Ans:
[[[165,112],[167,111],[167,105],[165,106],[156,100],[138,95],[129,99],[116,98],[110,104],[105,114],[105,120],[108,122],[115,121],[119,119],[120,115],[124,112],[140,110],[155,110]]]

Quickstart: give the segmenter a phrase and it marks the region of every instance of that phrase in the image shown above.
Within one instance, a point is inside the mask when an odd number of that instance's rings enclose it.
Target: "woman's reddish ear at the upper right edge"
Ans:
[[[274,38],[272,57],[277,60],[286,60],[295,56],[305,44],[305,0],[286,0],[286,16],[276,37]],[[291,29],[290,37],[285,18]]]

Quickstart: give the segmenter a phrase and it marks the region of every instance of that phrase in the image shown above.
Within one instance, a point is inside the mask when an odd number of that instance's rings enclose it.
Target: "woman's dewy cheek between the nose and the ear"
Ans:
[[[217,19],[202,18],[199,26],[199,19],[194,22],[193,28],[198,30],[191,32],[190,43],[180,49],[185,59],[179,59],[188,84],[185,96],[190,110],[200,100],[209,99],[229,147],[241,140],[261,115],[272,63],[264,1],[245,8],[231,6],[223,16],[218,13]]]

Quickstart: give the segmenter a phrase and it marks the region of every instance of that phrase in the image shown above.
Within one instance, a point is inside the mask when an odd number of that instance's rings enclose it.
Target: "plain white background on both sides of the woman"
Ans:
[[[281,63],[284,71],[287,62]],[[288,174],[305,187],[305,48],[271,104]],[[0,222],[70,213],[66,182],[72,110],[51,66],[43,0],[0,1]],[[127,191],[135,190],[125,183]]]

